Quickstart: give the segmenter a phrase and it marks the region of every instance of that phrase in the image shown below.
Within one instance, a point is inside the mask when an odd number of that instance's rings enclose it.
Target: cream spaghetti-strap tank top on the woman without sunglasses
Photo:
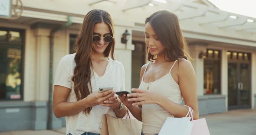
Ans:
[[[174,62],[174,64],[177,60]],[[150,63],[148,63],[150,64]],[[144,71],[141,79],[141,84],[139,89],[147,90],[153,93],[158,93],[174,103],[181,104],[182,95],[179,84],[175,82],[171,76],[171,70],[174,67],[172,65],[170,71],[158,80],[150,83],[144,82],[144,74],[148,68],[148,65]],[[164,121],[167,117],[172,117],[173,115],[163,109],[157,104],[144,104],[142,105],[141,117],[142,117],[142,132],[144,135],[156,135],[160,132],[160,129],[164,125]]]

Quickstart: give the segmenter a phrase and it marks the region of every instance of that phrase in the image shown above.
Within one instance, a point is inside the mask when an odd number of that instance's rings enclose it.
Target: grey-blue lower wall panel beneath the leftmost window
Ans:
[[[0,131],[47,128],[46,102],[0,102]]]

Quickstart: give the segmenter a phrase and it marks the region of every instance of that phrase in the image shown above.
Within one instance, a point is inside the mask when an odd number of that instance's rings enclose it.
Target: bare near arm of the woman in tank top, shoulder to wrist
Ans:
[[[196,75],[191,63],[185,59],[180,59],[177,74],[185,105],[190,106],[193,109],[194,119],[198,119],[199,112]],[[188,108],[186,106],[174,103],[167,98],[160,98],[157,104],[173,114],[175,117],[184,117],[188,112]]]

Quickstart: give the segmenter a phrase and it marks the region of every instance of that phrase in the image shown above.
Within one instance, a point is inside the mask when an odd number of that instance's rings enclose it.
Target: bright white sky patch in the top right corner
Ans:
[[[256,0],[209,0],[220,10],[256,18]]]

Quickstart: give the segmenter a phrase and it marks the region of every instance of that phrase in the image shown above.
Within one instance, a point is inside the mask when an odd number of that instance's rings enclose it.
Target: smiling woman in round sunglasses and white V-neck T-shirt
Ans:
[[[66,117],[67,135],[99,135],[102,116],[122,118],[126,107],[115,91],[125,90],[123,65],[114,60],[112,18],[104,10],[86,14],[75,42],[75,52],[57,67],[53,93],[56,117]],[[111,53],[111,58],[109,58]],[[98,93],[100,87],[113,87]]]

